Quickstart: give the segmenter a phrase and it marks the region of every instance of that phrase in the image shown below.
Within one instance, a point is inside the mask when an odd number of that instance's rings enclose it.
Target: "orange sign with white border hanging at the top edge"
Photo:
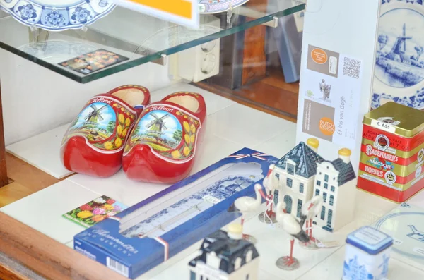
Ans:
[[[155,18],[199,28],[198,0],[114,0],[114,2]]]

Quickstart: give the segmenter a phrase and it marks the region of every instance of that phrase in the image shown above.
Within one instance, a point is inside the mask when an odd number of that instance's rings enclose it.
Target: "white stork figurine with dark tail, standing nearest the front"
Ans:
[[[283,230],[290,234],[290,255],[280,257],[276,262],[277,267],[284,270],[294,270],[299,267],[299,261],[293,257],[293,246],[295,245],[295,238],[302,243],[307,243],[310,240],[307,233],[302,229],[306,218],[306,216],[302,215],[300,221],[298,221],[295,216],[285,212],[284,202],[278,202],[276,208],[276,219]]]

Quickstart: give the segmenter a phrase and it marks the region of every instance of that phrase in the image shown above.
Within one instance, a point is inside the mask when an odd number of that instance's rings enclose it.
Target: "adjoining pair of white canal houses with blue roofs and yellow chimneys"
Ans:
[[[343,148],[337,159],[328,161],[319,156],[318,147],[315,138],[308,139],[306,144],[300,142],[278,160],[266,181],[276,185],[273,203],[282,200],[285,211],[299,218],[307,201],[315,195],[322,196],[322,209],[314,224],[332,232],[353,220],[356,176],[350,161],[351,150]]]

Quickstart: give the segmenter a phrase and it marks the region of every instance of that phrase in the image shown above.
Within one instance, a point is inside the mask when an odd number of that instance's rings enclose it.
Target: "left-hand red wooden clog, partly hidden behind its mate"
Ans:
[[[62,140],[66,169],[98,177],[117,173],[126,138],[150,98],[146,87],[124,85],[90,99]]]

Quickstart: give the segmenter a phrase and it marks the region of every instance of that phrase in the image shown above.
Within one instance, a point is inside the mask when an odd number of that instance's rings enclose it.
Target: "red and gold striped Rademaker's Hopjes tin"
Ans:
[[[424,187],[424,112],[388,102],[365,114],[358,188],[404,202]]]

